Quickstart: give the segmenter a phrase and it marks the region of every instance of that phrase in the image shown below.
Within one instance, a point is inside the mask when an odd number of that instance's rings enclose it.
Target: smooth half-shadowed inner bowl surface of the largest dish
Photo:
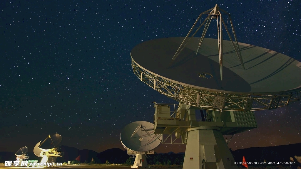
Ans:
[[[220,79],[217,39],[193,37],[172,60],[184,37],[161,38],[142,42],[131,57],[141,69],[163,79],[192,88],[223,93],[275,93],[301,88],[301,63],[279,52],[238,43],[243,69],[231,41],[223,40],[223,80]],[[209,78],[200,77],[206,73]]]

